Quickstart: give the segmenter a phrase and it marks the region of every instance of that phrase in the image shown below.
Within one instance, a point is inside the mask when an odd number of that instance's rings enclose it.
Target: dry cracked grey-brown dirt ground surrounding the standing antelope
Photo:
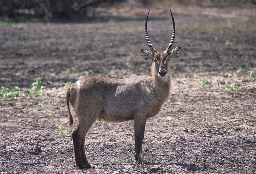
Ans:
[[[119,10],[111,8],[113,18],[105,22],[0,26],[0,86],[17,85],[25,94],[0,99],[0,173],[256,172],[256,81],[248,74],[256,70],[256,6],[136,5],[116,5]],[[66,129],[67,86],[84,74],[149,74],[151,62],[139,55],[140,49],[148,49],[144,19],[151,8],[149,36],[157,50],[164,50],[172,27],[168,7],[176,22],[174,47],[182,46],[183,52],[171,60],[172,95],[147,121],[145,163],[133,159],[132,121],[96,121],[85,141],[93,168],[79,170],[70,136],[78,122],[73,110],[75,123]],[[238,67],[244,74],[235,74]],[[46,87],[44,96],[28,97],[36,77]],[[205,77],[212,84],[202,88]],[[239,91],[229,90],[229,84],[238,85]],[[222,103],[216,106],[219,99]],[[44,110],[36,110],[38,103]],[[57,136],[61,123],[66,137]]]

